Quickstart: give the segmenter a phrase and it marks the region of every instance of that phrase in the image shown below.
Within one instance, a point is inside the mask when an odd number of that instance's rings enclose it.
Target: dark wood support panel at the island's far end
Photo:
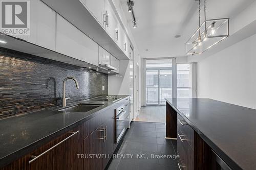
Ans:
[[[177,138],[177,112],[166,102],[166,137]]]

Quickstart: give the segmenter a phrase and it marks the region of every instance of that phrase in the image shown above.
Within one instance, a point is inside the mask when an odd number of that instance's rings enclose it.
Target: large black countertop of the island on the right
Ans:
[[[211,99],[165,100],[232,169],[256,169],[256,110]]]

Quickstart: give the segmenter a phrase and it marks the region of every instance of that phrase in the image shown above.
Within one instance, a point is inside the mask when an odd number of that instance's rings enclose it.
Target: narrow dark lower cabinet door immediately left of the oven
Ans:
[[[103,154],[106,155],[106,158],[103,159],[103,169],[109,162],[109,157],[113,154],[114,147],[114,118],[109,119],[106,123],[104,123],[103,127],[105,129],[105,140],[103,143]]]

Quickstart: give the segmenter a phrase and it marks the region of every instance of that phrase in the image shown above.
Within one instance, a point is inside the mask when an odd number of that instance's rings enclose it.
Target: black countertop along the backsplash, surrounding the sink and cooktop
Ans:
[[[115,95],[123,100],[128,95]],[[62,112],[61,107],[54,107],[34,113],[0,120],[0,167],[28,154],[40,145],[77,126],[79,122],[100,114],[109,106],[120,102],[80,101],[77,104],[102,105],[86,113]]]

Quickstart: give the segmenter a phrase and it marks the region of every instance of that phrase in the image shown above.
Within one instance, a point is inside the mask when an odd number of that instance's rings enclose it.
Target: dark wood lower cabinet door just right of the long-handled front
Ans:
[[[83,154],[86,156],[86,158],[83,159],[83,169],[102,169],[102,158],[93,158],[93,155],[103,153],[103,140],[104,128],[102,126],[83,139]],[[87,158],[88,156],[92,156],[92,158]]]

